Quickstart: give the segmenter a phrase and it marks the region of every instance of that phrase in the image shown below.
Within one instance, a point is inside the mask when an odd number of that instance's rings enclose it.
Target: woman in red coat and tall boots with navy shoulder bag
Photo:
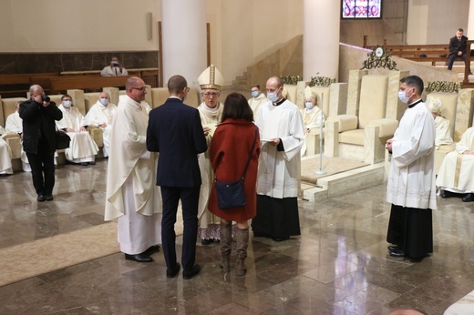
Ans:
[[[242,178],[242,173],[250,158],[243,178],[243,191],[246,206],[220,209],[217,204],[215,187],[211,190],[209,210],[221,218],[221,253],[224,272],[231,270],[232,221],[237,222],[237,275],[246,272],[245,258],[249,243],[249,222],[256,214],[256,181],[258,157],[260,155],[260,136],[258,127],[253,124],[253,113],[247,99],[239,93],[226,97],[222,112],[222,123],[216,128],[211,140],[210,157],[214,177],[221,182],[232,182]],[[254,144],[254,145],[253,145]]]

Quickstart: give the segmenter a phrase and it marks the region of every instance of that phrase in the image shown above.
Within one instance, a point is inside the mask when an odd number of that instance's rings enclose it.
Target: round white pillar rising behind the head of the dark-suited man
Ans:
[[[162,0],[161,16],[164,86],[174,75],[198,86],[207,67],[206,1]]]

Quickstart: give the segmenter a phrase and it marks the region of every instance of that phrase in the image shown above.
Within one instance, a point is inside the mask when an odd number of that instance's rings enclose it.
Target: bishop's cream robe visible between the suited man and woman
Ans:
[[[199,114],[201,117],[202,127],[211,127],[212,131],[215,129],[217,124],[221,122],[223,105],[219,103],[217,109],[212,109],[206,106],[204,102],[198,107]],[[211,147],[211,138],[213,132],[210,132],[206,137],[207,147],[206,152],[201,153],[198,156],[199,168],[201,169],[201,190],[199,196],[199,206],[198,206],[198,218],[200,222],[201,229],[207,229],[210,224],[217,224],[220,222],[220,219],[213,215],[207,208],[209,197],[211,196],[211,188],[213,184],[214,174],[211,168],[211,159],[209,157],[209,147]]]

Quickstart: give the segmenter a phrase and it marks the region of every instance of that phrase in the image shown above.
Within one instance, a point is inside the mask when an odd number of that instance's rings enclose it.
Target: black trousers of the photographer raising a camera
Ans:
[[[52,195],[55,187],[55,153],[50,152],[47,142],[40,139],[37,153],[26,152],[31,166],[33,186],[38,195]]]

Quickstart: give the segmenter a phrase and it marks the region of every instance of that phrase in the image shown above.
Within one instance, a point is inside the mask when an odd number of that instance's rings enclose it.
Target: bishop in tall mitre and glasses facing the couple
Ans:
[[[201,124],[204,127],[207,146],[211,144],[211,138],[214,130],[221,122],[223,105],[219,102],[221,96],[224,78],[219,70],[211,65],[201,73],[198,77],[198,82],[201,87],[202,103],[198,107]],[[209,151],[206,151],[199,156],[199,167],[201,169],[201,193],[199,198],[199,228],[198,234],[201,238],[202,245],[211,244],[212,240],[219,240],[221,238],[220,220],[208,210],[209,196],[212,187],[212,168],[211,159],[209,158]]]

